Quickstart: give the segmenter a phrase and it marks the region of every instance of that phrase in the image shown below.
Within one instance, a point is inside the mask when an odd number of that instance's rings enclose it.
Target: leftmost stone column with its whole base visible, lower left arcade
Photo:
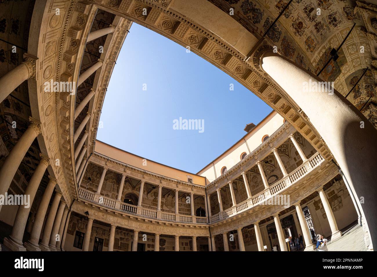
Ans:
[[[12,251],[26,251],[26,248],[22,243],[26,222],[28,220],[31,206],[34,202],[35,194],[37,193],[38,187],[42,181],[44,172],[49,165],[48,157],[41,154],[39,156],[41,157],[41,161],[35,169],[34,174],[31,177],[24,193],[29,198],[24,200],[24,204],[26,204],[26,201],[28,201],[29,207],[25,205],[18,206],[17,214],[13,223],[12,233],[9,238],[6,237],[4,239],[4,245]]]

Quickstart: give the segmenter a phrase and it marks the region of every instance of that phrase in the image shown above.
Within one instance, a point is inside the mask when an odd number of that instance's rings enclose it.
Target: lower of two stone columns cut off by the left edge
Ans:
[[[0,90],[3,90],[3,88]],[[21,164],[22,159],[26,152],[28,152],[34,139],[41,133],[40,122],[32,118],[30,118],[30,122],[28,129],[26,129],[21,138],[18,139],[0,168],[0,195],[5,195],[5,193],[8,192],[8,188],[11,185],[18,166]],[[0,211],[1,208],[2,205],[0,205]]]

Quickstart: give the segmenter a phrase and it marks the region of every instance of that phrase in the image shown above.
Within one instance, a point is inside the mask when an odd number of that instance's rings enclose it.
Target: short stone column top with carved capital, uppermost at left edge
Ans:
[[[23,62],[0,78],[0,103],[24,81],[35,78],[35,61],[38,58],[29,54],[24,54],[23,58]]]

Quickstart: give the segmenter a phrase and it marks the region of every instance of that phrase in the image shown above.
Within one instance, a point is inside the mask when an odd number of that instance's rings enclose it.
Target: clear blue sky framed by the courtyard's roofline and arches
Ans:
[[[107,87],[97,139],[196,173],[271,110],[203,58],[133,23]],[[204,132],[173,129],[180,117],[204,120]]]

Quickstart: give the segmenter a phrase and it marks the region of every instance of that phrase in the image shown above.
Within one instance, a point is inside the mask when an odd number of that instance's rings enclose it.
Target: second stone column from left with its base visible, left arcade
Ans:
[[[52,178],[51,176],[49,176],[49,178],[50,179],[47,184],[46,190],[44,190],[41,202],[37,210],[37,214],[35,215],[34,223],[31,229],[30,239],[24,243],[24,246],[28,251],[41,251],[38,245],[39,237],[41,235],[44,217],[46,216],[52,192],[54,191],[55,185],[58,183],[55,178]]]

